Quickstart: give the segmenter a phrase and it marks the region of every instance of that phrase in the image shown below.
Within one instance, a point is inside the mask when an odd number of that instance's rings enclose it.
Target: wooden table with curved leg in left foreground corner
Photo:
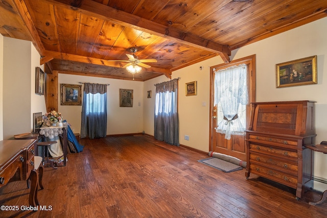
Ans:
[[[0,141],[0,188],[8,182],[31,179],[29,203],[35,207],[38,174],[34,169],[36,139]]]

